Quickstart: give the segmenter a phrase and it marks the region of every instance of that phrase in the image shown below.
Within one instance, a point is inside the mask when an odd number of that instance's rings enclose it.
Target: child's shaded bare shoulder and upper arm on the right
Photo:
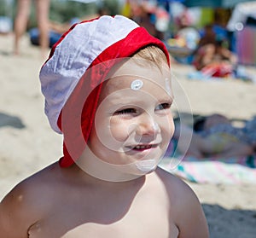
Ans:
[[[179,229],[178,237],[209,237],[207,219],[195,192],[168,171],[156,171],[170,199],[170,216]]]

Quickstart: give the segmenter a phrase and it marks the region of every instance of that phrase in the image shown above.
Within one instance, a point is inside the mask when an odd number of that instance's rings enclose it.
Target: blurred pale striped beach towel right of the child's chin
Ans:
[[[256,184],[255,155],[237,158],[171,157],[161,160],[160,167],[193,183]]]

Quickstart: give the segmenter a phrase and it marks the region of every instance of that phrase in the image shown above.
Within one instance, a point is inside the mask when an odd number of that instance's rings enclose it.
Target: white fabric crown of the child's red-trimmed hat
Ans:
[[[61,109],[90,64],[137,27],[137,23],[122,15],[104,15],[79,23],[56,46],[39,74],[45,97],[44,111],[54,131],[61,133],[57,125]]]

